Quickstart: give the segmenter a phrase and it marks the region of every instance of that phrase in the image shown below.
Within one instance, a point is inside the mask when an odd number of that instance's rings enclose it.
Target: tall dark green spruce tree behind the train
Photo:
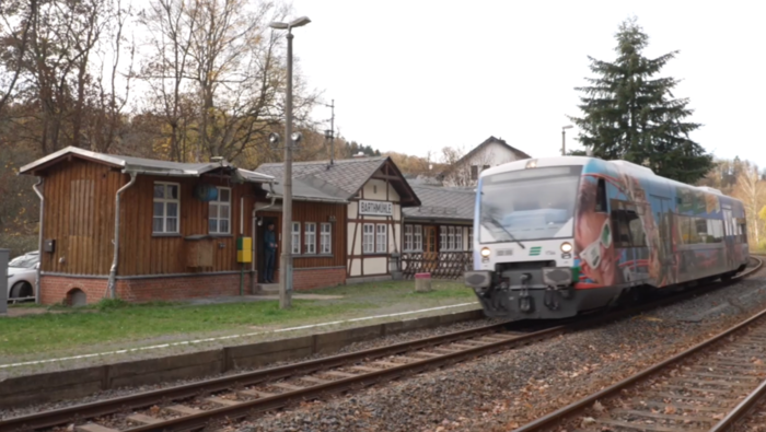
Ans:
[[[622,159],[650,167],[663,177],[693,184],[712,167],[712,156],[689,138],[699,124],[687,121],[693,109],[687,98],[674,98],[674,78],[657,77],[675,58],[672,51],[655,59],[642,55],[649,36],[636,19],[623,22],[615,35],[617,59],[591,61],[597,78],[576,87],[582,118],[570,117],[580,128],[578,140],[604,160]]]

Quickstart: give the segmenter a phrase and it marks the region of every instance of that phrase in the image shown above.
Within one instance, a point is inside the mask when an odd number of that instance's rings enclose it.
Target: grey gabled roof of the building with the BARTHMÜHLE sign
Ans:
[[[285,164],[263,164],[258,166],[258,172],[279,180],[285,175]],[[373,177],[388,179],[402,197],[403,207],[420,205],[417,195],[388,156],[341,159],[333,164],[329,161],[292,164],[293,196],[306,200],[334,198],[348,202]],[[299,186],[299,183],[302,185]],[[276,196],[281,196],[282,190],[281,185],[275,185]]]

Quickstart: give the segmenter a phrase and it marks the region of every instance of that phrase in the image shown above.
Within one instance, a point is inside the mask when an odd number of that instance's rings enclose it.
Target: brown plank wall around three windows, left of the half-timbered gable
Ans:
[[[292,265],[294,268],[343,267],[346,265],[345,245],[347,207],[348,205],[293,201],[292,220],[294,222],[301,222],[301,243],[303,243],[303,231],[305,231],[305,222],[316,222],[317,252],[320,249],[320,224],[323,222],[329,222],[330,215],[335,217],[335,223],[332,224],[333,256],[295,256],[292,260]],[[301,244],[301,250],[302,248],[303,245]]]

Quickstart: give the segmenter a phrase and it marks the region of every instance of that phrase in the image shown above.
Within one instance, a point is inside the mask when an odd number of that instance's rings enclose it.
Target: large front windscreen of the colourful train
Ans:
[[[484,177],[479,243],[571,238],[581,172],[553,166]]]

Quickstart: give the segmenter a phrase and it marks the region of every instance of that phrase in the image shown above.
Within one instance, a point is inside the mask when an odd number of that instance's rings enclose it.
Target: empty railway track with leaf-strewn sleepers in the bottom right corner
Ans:
[[[766,397],[766,310],[513,432],[733,431]]]

